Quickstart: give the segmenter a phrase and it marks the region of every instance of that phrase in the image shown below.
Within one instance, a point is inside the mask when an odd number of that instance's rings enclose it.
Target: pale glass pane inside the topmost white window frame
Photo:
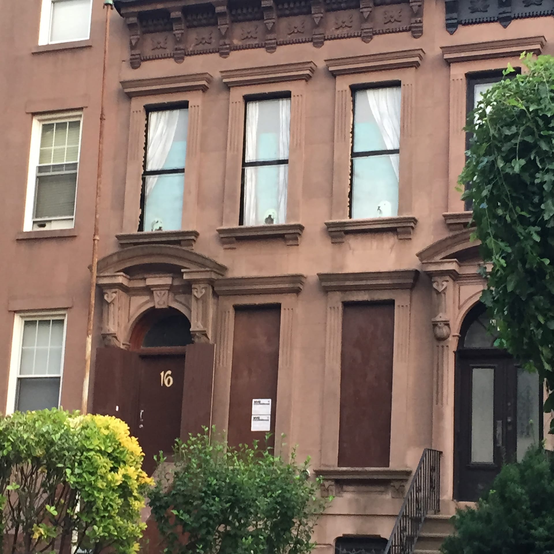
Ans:
[[[91,0],[58,0],[53,2],[50,42],[88,39],[90,2]]]

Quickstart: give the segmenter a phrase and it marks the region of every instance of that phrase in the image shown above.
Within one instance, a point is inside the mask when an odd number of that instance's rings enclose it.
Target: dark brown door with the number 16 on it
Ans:
[[[150,474],[156,465],[153,456],[160,450],[171,454],[175,439],[181,435],[184,356],[139,356],[136,437],[144,451],[143,468]]]

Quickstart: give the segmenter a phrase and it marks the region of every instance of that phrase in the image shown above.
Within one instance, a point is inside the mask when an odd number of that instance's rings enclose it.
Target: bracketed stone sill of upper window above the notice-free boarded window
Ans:
[[[327,233],[332,244],[345,242],[345,235],[351,233],[382,233],[396,231],[399,239],[411,239],[416,228],[414,216],[376,217],[371,219],[336,219],[326,221]]]

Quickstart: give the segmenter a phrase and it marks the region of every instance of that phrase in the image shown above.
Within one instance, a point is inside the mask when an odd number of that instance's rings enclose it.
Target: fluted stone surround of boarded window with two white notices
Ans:
[[[237,306],[281,306],[279,337],[279,367],[275,414],[275,452],[289,454],[292,433],[292,404],[297,325],[298,294],[304,284],[304,275],[271,275],[261,277],[223,278],[215,281],[214,290],[219,296],[216,324],[216,363],[214,372],[214,398],[212,422],[218,429],[227,429],[231,371],[233,363],[234,314]],[[279,443],[281,434],[287,437]]]

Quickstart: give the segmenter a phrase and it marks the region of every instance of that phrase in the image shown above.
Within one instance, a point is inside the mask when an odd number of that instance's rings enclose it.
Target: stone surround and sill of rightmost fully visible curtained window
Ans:
[[[346,233],[396,231],[398,238],[411,238],[417,219],[412,213],[412,160],[416,142],[414,127],[414,83],[416,70],[424,57],[422,49],[399,50],[325,60],[336,78],[335,153],[331,221],[325,222],[332,243],[344,242]],[[348,218],[348,192],[351,172],[352,87],[384,86],[400,81],[402,86],[398,216],[391,218]]]

